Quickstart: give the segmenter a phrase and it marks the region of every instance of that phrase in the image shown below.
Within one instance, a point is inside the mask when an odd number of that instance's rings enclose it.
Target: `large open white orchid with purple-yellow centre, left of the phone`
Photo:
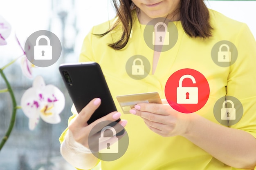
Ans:
[[[51,124],[61,122],[59,114],[65,106],[63,93],[54,85],[45,85],[37,76],[33,86],[23,94],[20,103],[24,114],[29,118],[29,129],[34,130],[39,118]]]

